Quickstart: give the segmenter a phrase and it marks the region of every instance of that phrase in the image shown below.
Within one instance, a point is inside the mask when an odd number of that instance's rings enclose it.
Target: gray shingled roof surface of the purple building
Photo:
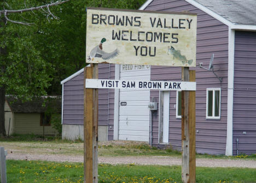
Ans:
[[[256,25],[256,0],[194,0],[237,25]]]

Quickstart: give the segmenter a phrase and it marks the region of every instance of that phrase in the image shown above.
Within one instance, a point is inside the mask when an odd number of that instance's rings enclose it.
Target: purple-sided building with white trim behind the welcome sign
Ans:
[[[223,0],[149,0],[140,9],[197,14],[196,68],[191,68],[196,70],[197,153],[256,153],[254,0],[242,3]],[[214,71],[220,80],[212,71],[200,67],[202,63],[202,66],[208,68],[212,54]],[[150,80],[181,80],[181,68],[138,68],[131,65],[99,64],[99,78],[119,80],[143,76]],[[72,138],[79,135],[83,137],[83,69],[61,84],[62,136],[69,138],[73,130],[75,134]],[[119,89],[100,89],[98,92],[100,139],[146,141],[156,147],[171,145],[173,149],[181,150],[178,91],[124,93]],[[142,99],[144,96],[146,98]],[[144,109],[150,101],[158,102],[157,111],[147,113],[145,110],[143,114],[136,112],[137,106]],[[122,106],[122,102],[127,103],[127,106]],[[129,106],[129,103],[133,103],[133,106]],[[163,129],[162,118],[167,119],[167,130]]]

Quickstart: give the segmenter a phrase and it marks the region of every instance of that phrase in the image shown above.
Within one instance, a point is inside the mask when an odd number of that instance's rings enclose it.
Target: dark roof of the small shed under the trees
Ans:
[[[43,113],[45,112],[46,107],[50,106],[53,108],[53,112],[61,113],[61,96],[55,97],[37,97],[31,101],[22,102],[19,99],[16,99],[13,96],[5,96],[11,111],[19,113]],[[44,100],[45,106],[43,105]]]

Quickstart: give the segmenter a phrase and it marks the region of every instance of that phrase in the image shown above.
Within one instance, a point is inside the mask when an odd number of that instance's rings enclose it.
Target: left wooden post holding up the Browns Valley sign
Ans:
[[[84,182],[98,182],[98,89],[85,88],[86,78],[98,78],[98,64],[84,68]]]

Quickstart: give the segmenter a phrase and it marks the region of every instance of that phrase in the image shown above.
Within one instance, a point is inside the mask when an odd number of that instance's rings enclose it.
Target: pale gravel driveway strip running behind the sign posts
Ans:
[[[83,162],[83,156],[68,156],[68,155],[35,155],[11,153],[7,156],[8,160],[44,160],[57,162]],[[156,165],[181,165],[181,158],[170,156],[117,156],[117,157],[98,157],[98,163],[109,164],[156,164]],[[197,158],[196,166],[198,167],[241,167],[241,168],[256,168],[254,160],[229,160],[217,158]]]

